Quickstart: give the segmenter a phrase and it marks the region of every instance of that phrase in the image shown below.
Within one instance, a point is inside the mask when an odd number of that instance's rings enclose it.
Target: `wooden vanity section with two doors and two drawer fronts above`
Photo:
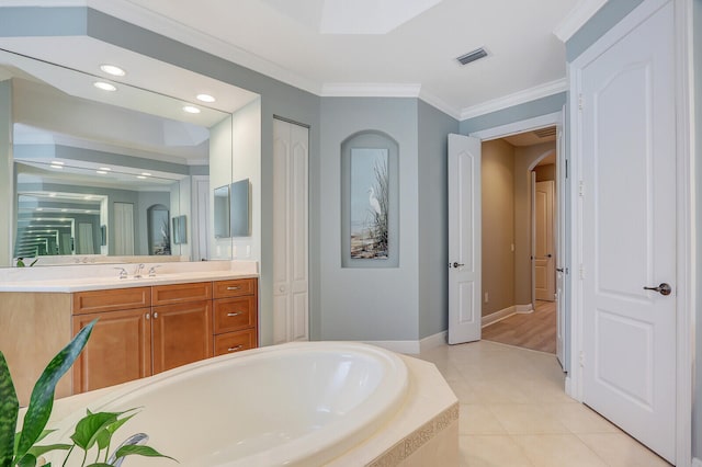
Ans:
[[[141,294],[141,289],[148,294]],[[139,294],[148,295],[148,300],[135,299]],[[120,301],[118,297],[124,299]],[[211,282],[80,292],[73,294],[73,304],[89,304],[73,316],[73,334],[100,318],[73,366],[73,394],[213,355]],[[144,304],[149,307],[120,309]],[[94,312],[80,314],[84,309]]]

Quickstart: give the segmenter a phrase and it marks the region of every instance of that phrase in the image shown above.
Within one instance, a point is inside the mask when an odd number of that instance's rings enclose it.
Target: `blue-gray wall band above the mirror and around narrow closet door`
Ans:
[[[310,126],[310,200],[319,195],[320,98],[212,54],[87,8],[3,8],[3,36],[88,35],[197,73],[261,94],[261,330],[262,345],[272,343],[272,158],[273,115]],[[313,202],[314,203],[314,202]],[[310,244],[319,243],[319,212],[310,205]],[[319,264],[310,263],[312,337],[319,332]]]

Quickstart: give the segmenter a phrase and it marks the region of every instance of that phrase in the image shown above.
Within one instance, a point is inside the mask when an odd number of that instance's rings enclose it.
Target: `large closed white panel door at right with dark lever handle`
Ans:
[[[585,65],[579,139],[584,401],[675,464],[673,45],[670,1]]]

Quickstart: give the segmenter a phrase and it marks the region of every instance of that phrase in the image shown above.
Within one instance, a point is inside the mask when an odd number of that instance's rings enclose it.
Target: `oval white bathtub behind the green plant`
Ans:
[[[376,432],[399,411],[407,391],[407,367],[392,352],[360,343],[305,342],[225,355],[128,383],[89,408],[141,407],[117,431],[113,446],[144,432],[150,446],[180,462],[131,456],[124,467],[318,466]],[[54,424],[52,437],[68,438],[84,413],[81,409]],[[80,457],[75,453],[72,460]]]

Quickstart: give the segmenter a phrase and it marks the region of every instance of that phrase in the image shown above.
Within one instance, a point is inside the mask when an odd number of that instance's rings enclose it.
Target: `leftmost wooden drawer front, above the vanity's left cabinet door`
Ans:
[[[111,288],[73,294],[73,315],[144,308],[150,305],[150,287]]]

